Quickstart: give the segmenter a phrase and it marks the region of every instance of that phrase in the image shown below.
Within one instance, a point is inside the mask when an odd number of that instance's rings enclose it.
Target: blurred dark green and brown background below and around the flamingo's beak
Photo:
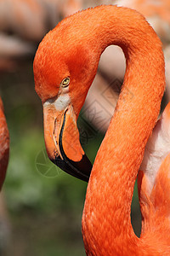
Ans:
[[[87,183],[60,171],[47,158],[42,104],[34,90],[32,61],[22,62],[15,72],[0,74],[0,93],[10,132],[3,193],[11,233],[4,255],[85,255],[81,218]],[[79,127],[83,128],[81,122]],[[90,160],[94,161],[103,137],[96,132],[82,142]],[[136,187],[134,192],[132,218],[139,235]]]

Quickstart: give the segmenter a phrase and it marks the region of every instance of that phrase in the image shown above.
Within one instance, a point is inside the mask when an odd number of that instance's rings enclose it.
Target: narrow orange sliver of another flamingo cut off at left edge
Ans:
[[[9,135],[6,119],[3,113],[3,101],[0,97],[0,189],[2,189],[3,182],[8,166],[9,153]]]

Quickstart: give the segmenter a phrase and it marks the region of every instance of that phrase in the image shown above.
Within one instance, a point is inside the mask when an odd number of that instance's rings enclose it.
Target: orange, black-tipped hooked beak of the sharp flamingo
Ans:
[[[63,171],[88,182],[92,164],[82,149],[72,106],[62,111],[56,111],[53,105],[43,106],[43,115],[49,159]]]

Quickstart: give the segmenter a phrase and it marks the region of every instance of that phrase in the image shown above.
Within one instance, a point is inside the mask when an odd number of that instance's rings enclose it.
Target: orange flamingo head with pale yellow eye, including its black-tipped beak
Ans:
[[[48,157],[65,172],[88,181],[92,164],[79,140],[77,117],[97,72],[99,54],[89,50],[88,42],[82,44],[79,33],[75,37],[75,30],[65,23],[56,26],[39,45],[33,67]]]

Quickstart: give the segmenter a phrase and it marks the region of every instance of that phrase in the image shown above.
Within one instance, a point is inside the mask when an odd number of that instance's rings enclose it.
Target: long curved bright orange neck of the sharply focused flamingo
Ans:
[[[131,201],[165,86],[161,42],[133,10],[108,6],[90,9],[88,15],[92,50],[100,55],[110,44],[121,46],[127,69],[88,183],[82,234],[88,255],[135,254],[139,239],[130,222]]]

